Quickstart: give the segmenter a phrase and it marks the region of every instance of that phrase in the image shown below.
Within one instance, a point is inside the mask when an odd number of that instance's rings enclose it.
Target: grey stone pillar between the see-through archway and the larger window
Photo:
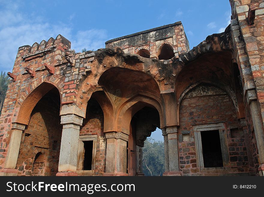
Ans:
[[[178,137],[177,127],[167,127],[168,136],[168,155],[169,155],[169,172],[167,176],[180,176],[179,157],[178,157]]]

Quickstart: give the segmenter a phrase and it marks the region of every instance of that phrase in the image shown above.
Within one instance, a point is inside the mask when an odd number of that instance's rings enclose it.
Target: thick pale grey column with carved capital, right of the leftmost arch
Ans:
[[[61,116],[62,136],[57,176],[77,175],[79,133],[82,117],[74,114]]]

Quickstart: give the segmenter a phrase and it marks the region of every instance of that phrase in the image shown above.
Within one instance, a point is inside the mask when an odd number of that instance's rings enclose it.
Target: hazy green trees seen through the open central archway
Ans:
[[[164,172],[164,142],[147,138],[143,147],[143,172],[145,176],[162,176]]]

